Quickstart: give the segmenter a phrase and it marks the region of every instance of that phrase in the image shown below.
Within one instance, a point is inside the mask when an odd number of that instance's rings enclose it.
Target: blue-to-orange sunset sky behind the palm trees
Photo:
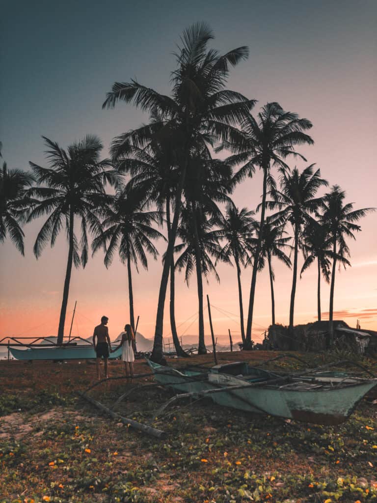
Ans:
[[[211,46],[226,52],[249,46],[247,61],[231,71],[228,88],[258,100],[254,112],[270,101],[313,122],[315,144],[299,148],[316,163],[330,186],[338,184],[354,208],[377,207],[375,117],[377,99],[377,3],[342,0],[310,2],[160,1],[137,3],[10,2],[2,5],[0,21],[0,140],[8,167],[29,169],[29,161],[47,166],[42,135],[62,147],[86,134],[103,140],[103,157],[114,136],[137,128],[148,117],[132,105],[102,110],[114,81],[139,82],[169,94],[172,54],[182,31],[206,21],[216,39]],[[260,202],[261,174],[245,180],[233,194],[239,208],[255,209]],[[322,191],[323,192],[323,191]],[[42,220],[27,224],[25,257],[10,240],[0,245],[0,338],[56,335],[67,243],[62,234],[54,248],[47,246],[35,259],[33,244]],[[377,213],[361,222],[362,232],[351,240],[352,267],[336,273],[334,318],[377,330]],[[289,229],[290,230],[290,229]],[[164,244],[158,243],[162,254]],[[300,257],[299,267],[303,263]],[[276,321],[287,324],[292,271],[274,263]],[[148,271],[133,269],[138,330],[153,337],[161,259],[149,261]],[[214,330],[225,337],[231,329],[240,339],[235,268],[218,267],[205,284],[210,296]],[[247,310],[251,270],[242,272]],[[316,270],[306,271],[297,285],[295,323],[316,319]],[[115,338],[128,322],[127,271],[117,259],[107,270],[103,256],[72,272],[65,333],[88,337],[103,314]],[[322,284],[322,311],[328,315],[329,287]],[[259,341],[271,320],[267,271],[258,275],[253,339]],[[166,302],[168,307],[168,302]],[[198,300],[193,277],[189,288],[183,275],[176,279],[176,322],[184,337],[198,333]],[[207,311],[205,330],[209,332]],[[171,338],[168,310],[164,337]],[[227,337],[227,336],[226,336]]]

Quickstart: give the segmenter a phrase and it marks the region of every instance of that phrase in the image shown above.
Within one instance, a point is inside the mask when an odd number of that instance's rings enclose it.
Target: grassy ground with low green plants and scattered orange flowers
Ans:
[[[276,354],[218,354],[221,362],[258,363],[271,356]],[[210,365],[211,358],[194,357],[190,363]],[[311,357],[313,364],[331,358]],[[368,359],[361,363],[375,366]],[[169,364],[186,361],[171,359]],[[272,365],[302,367],[294,360]],[[112,362],[110,370],[121,376],[121,362]],[[135,371],[147,372],[144,362],[137,361]],[[77,395],[95,382],[93,365],[4,361],[0,377],[1,503],[377,501],[377,409],[372,400],[363,400],[337,427],[187,400],[153,421],[167,433],[159,441],[113,421]],[[148,384],[152,378],[137,382]],[[113,380],[88,394],[111,407],[130,386],[135,384]],[[141,388],[117,410],[146,423],[171,396],[162,388]]]

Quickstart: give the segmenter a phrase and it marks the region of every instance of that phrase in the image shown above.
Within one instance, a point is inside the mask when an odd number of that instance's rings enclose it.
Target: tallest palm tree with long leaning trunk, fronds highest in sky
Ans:
[[[216,142],[237,143],[243,135],[236,127],[254,105],[240,93],[227,90],[225,84],[230,66],[248,57],[247,47],[238,47],[220,55],[208,49],[214,38],[205,23],[197,23],[183,32],[181,47],[176,53],[177,69],[172,72],[172,96],[157,93],[136,80],[115,82],[107,95],[104,107],[112,108],[118,101],[133,102],[135,106],[154,114],[160,120],[120,135],[112,145],[112,154],[127,156],[137,146],[144,148],[152,140],[169,139],[175,146],[179,180],[174,195],[174,216],[162,270],[158,295],[156,329],[152,359],[162,359],[163,311],[169,268],[181,209],[181,197],[192,149],[207,148]]]

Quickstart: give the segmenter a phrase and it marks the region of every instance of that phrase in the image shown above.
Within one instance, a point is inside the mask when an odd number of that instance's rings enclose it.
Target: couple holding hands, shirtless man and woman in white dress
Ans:
[[[109,337],[109,328],[106,326],[108,324],[109,318],[107,316],[102,316],[101,324],[97,325],[93,332],[93,346],[96,350],[96,367],[97,367],[97,377],[100,380],[100,361],[101,358],[104,359],[105,362],[105,377],[109,378],[109,367],[108,367],[108,359],[110,353],[115,353],[120,347],[122,347],[122,360],[124,362],[124,368],[126,372],[126,376],[131,379],[134,376],[134,343],[135,343],[135,334],[132,329],[132,326],[127,324],[124,327],[124,332],[121,332],[118,336],[118,339],[121,339],[119,345],[115,348],[111,348],[111,342]]]

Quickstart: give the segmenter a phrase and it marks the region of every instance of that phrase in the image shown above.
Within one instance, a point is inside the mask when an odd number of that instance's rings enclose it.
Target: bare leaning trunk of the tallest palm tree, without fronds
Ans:
[[[179,177],[179,182],[175,191],[175,210],[173,222],[171,224],[171,232],[170,237],[168,236],[168,244],[167,250],[165,254],[165,261],[162,267],[162,276],[160,283],[160,290],[158,292],[158,303],[157,303],[157,314],[156,314],[156,328],[154,331],[154,342],[153,342],[153,350],[151,354],[151,360],[153,362],[159,363],[163,358],[162,353],[162,331],[163,331],[163,316],[164,316],[164,307],[165,307],[165,298],[166,298],[166,289],[167,282],[169,279],[169,270],[170,264],[173,260],[173,249],[175,243],[175,236],[178,228],[178,220],[180,215],[180,204],[183,192],[184,180],[186,177],[187,164],[189,163],[189,151],[186,148],[185,156],[184,156],[184,164],[182,166],[182,171]]]

